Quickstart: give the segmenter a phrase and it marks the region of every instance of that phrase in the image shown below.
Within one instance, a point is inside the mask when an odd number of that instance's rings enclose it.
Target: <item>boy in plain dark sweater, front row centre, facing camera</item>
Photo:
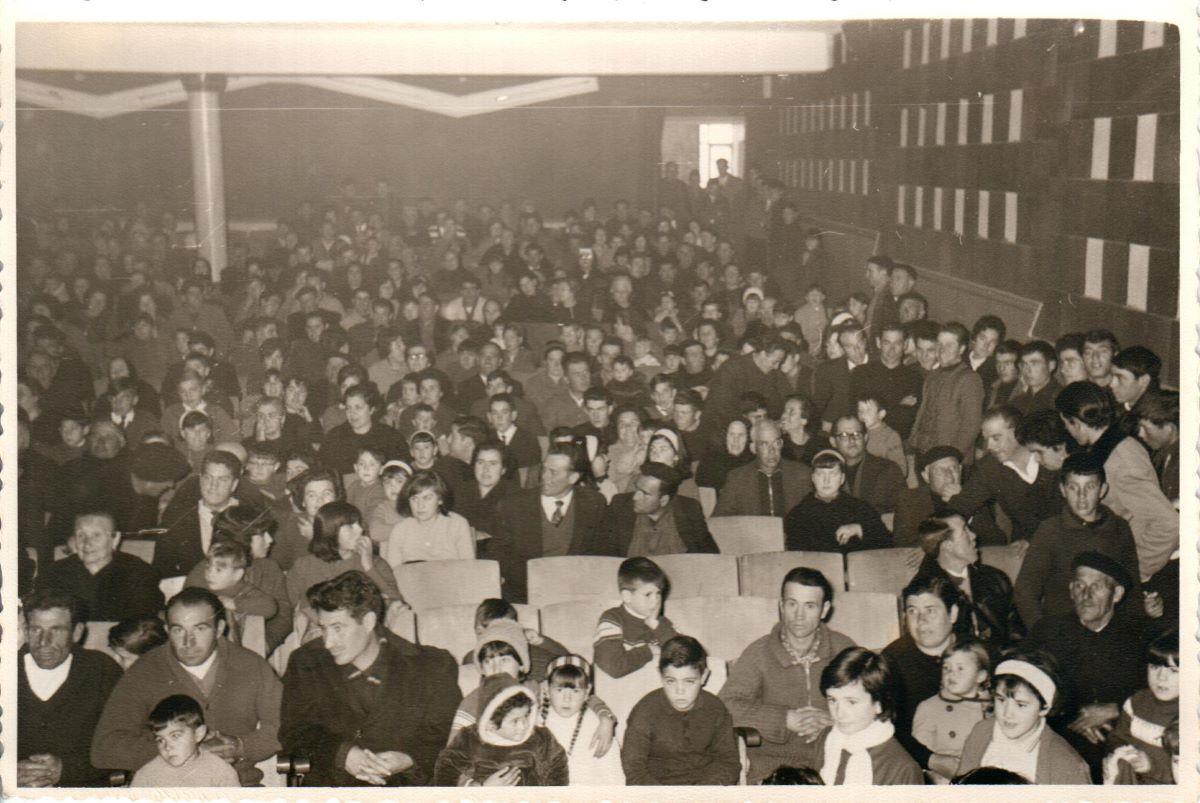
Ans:
[[[691,636],[674,636],[659,658],[662,688],[634,706],[620,749],[625,783],[733,785],[742,762],[733,718],[716,695],[704,691],[708,654]]]

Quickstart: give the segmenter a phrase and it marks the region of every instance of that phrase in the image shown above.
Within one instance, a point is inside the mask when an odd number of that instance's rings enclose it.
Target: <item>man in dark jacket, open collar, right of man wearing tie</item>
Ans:
[[[716,552],[700,503],[677,496],[679,472],[646,463],[631,493],[618,493],[589,551],[617,557]]]

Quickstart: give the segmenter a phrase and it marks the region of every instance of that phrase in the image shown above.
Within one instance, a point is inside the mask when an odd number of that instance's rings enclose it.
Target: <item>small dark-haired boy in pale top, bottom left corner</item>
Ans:
[[[131,786],[239,786],[236,769],[200,749],[209,729],[196,700],[173,694],[154,707],[148,720],[158,755],[137,771]]]

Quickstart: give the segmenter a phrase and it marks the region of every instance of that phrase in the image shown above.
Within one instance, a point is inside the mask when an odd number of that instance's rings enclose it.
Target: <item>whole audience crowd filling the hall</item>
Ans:
[[[304,203],[220,281],[144,205],[37,227],[19,784],[251,786],[275,756],[314,786],[1174,783],[1159,356],[935,323],[884,256],[827,304],[820,234],[732,178],[554,229]],[[731,211],[756,204],[766,239]],[[656,559],[752,551],[728,516],[814,557],[743,587],[778,623],[718,655]],[[830,627],[853,583],[810,563],[898,547],[900,635],[871,649]],[[558,556],[620,559],[590,652],[526,623]],[[462,589],[468,655],[412,630],[406,573],[450,561],[499,569]]]

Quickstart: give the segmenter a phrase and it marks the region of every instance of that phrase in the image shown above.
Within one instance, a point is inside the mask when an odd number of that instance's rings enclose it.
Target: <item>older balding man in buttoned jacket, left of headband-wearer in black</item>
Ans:
[[[728,473],[713,515],[782,519],[812,491],[812,472],[808,466],[784,460],[784,433],[770,419],[754,426],[750,444],[754,462]]]

